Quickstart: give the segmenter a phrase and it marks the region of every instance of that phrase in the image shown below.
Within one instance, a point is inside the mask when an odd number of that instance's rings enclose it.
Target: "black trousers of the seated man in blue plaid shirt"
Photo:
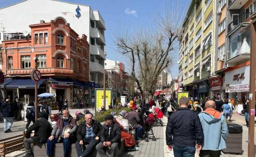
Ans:
[[[91,151],[95,148],[95,146],[100,142],[96,139],[83,140],[84,144],[88,144],[87,148],[84,145],[80,145],[79,141],[75,143],[75,148],[77,150],[78,157],[89,157]]]

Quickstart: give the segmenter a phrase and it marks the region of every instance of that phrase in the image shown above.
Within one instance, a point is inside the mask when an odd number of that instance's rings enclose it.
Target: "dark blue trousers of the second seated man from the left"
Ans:
[[[61,139],[59,143],[63,142],[64,157],[69,156],[70,150],[70,139]],[[54,155],[55,144],[58,143],[58,139],[54,138],[52,141],[47,140],[47,155]]]

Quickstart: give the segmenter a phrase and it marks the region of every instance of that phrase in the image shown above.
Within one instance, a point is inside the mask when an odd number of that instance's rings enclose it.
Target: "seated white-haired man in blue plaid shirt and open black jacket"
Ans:
[[[85,115],[85,121],[77,129],[75,148],[77,149],[78,157],[90,156],[93,148],[100,142],[101,128],[101,123],[92,119],[91,114]],[[88,144],[87,148],[85,148],[85,144]]]

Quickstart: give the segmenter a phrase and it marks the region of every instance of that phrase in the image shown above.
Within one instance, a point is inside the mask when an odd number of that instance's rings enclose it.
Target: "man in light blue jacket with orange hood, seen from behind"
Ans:
[[[224,116],[215,110],[216,104],[208,100],[206,110],[199,113],[203,127],[203,146],[199,157],[219,157],[221,150],[226,148],[225,140],[228,137],[228,128]]]

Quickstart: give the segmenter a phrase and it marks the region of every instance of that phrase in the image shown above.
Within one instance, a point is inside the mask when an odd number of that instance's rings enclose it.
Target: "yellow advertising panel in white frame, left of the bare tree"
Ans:
[[[112,89],[106,89],[106,110],[108,110],[108,105],[111,105],[112,100]],[[95,109],[101,110],[104,104],[104,90],[96,88],[95,89]]]

